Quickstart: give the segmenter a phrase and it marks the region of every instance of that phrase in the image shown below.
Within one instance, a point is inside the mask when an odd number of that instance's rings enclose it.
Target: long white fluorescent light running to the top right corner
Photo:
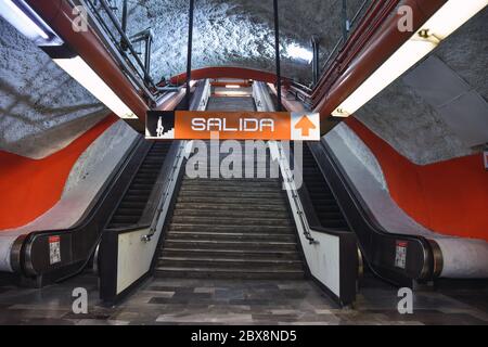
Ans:
[[[332,115],[348,117],[432,52],[488,4],[488,0],[449,0],[356,89]]]

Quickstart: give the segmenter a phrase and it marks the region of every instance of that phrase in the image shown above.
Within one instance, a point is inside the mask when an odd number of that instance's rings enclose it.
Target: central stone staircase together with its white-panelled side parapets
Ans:
[[[198,105],[214,112],[254,112],[258,106],[251,90],[246,97],[219,97],[222,93],[208,86],[207,80],[198,87],[206,90],[202,95],[209,97],[208,101],[196,99],[191,110]],[[262,99],[258,101],[262,107]],[[151,218],[147,207],[142,209],[146,198],[140,195],[143,187],[129,188],[100,244],[100,296],[104,303],[115,305],[150,277],[311,278],[339,305],[354,301],[356,237],[344,231],[347,223],[330,191],[313,190],[328,228],[313,229],[314,242],[304,240],[309,229],[303,228],[303,218],[311,208],[299,204],[295,191],[287,189],[286,164],[281,162],[283,152],[278,144],[258,141],[248,146],[233,141],[228,146],[230,143],[181,141],[170,167],[159,175],[165,177],[166,189],[160,191],[157,213]],[[306,174],[310,187],[321,184],[317,171]]]

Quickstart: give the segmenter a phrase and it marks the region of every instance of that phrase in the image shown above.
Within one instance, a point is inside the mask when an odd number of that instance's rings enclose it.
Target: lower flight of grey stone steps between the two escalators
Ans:
[[[281,181],[183,178],[156,275],[303,279]]]

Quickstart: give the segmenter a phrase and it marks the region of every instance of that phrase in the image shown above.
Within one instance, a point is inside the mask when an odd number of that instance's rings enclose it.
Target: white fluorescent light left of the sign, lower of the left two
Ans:
[[[124,119],[138,118],[80,56],[53,61],[117,116]]]

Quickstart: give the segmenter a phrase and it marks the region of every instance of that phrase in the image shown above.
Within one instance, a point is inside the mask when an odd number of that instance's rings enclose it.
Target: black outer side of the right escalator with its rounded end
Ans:
[[[372,270],[398,285],[411,286],[413,280],[432,275],[432,255],[424,237],[387,233],[375,221],[326,143],[310,143],[310,150],[326,179],[361,250]],[[401,249],[403,248],[403,249]],[[400,253],[404,262],[398,262]]]

